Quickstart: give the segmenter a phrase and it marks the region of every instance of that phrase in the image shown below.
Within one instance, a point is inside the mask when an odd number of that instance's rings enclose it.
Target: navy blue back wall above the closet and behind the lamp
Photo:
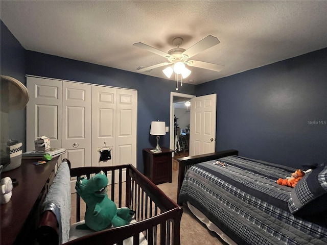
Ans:
[[[151,121],[170,119],[170,93],[176,83],[106,66],[26,51],[26,74],[113,87],[137,89],[137,168],[143,171],[142,149],[155,147]],[[195,94],[195,85],[183,84],[180,93]],[[169,148],[169,133],[160,137]]]

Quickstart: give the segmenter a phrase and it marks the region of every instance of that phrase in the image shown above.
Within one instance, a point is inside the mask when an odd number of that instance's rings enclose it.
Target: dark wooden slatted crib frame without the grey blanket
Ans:
[[[68,160],[68,165],[70,163]],[[182,208],[171,200],[164,192],[154,185],[132,165],[107,167],[79,167],[71,169],[71,178],[86,176],[89,179],[100,171],[111,181],[108,185],[108,198],[118,208],[128,207],[135,211],[135,223],[94,232],[68,244],[124,244],[127,238],[132,244],[139,244],[140,234],[144,235],[147,244],[180,244],[180,220]],[[124,181],[126,179],[126,181]],[[76,198],[76,222],[81,220],[81,205],[84,201]],[[73,206],[73,203],[72,203]],[[82,213],[84,215],[84,213]],[[72,222],[72,221],[71,221]],[[37,231],[39,244],[58,244],[59,229],[56,216],[51,211],[44,211],[40,218]],[[132,238],[130,238],[132,237]]]

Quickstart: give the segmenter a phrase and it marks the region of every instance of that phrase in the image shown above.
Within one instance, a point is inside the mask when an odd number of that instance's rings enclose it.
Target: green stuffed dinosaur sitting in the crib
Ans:
[[[85,224],[76,229],[101,231],[106,228],[124,226],[130,223],[134,211],[129,208],[117,209],[114,202],[108,199],[107,176],[101,171],[89,180],[79,178],[75,189],[87,205]]]

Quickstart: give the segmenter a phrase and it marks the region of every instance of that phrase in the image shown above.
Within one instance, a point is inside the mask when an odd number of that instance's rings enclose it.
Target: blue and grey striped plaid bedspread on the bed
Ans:
[[[196,164],[185,175],[179,200],[190,202],[238,244],[327,244],[326,218],[294,216],[292,188],[276,183],[294,168],[240,156]]]

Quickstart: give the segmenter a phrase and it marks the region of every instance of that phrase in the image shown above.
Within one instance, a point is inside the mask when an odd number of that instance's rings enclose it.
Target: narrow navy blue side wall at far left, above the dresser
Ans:
[[[13,77],[26,85],[25,78],[25,49],[0,21],[0,72],[1,75]],[[26,145],[26,110],[11,111],[9,113],[9,138],[23,142],[23,150]]]

